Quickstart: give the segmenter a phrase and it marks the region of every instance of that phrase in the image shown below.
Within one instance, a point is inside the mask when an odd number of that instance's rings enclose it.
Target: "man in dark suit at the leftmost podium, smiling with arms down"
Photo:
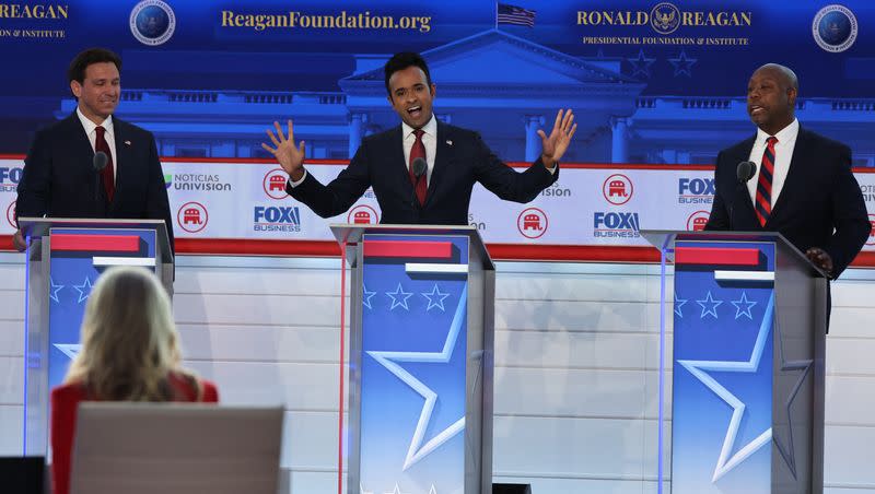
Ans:
[[[121,95],[121,60],[91,48],[70,63],[78,99],[69,117],[37,131],[19,183],[18,217],[164,220],[173,246],[167,189],[152,133],[113,117]],[[96,172],[95,154],[106,155]],[[21,231],[15,247],[26,248]]]

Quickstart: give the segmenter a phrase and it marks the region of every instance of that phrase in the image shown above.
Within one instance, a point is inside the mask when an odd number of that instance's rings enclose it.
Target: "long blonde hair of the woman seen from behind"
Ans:
[[[82,384],[98,400],[171,401],[175,373],[199,397],[197,379],[179,367],[178,340],[171,301],[155,275],[143,268],[109,268],[89,296],[82,350],[65,380]]]

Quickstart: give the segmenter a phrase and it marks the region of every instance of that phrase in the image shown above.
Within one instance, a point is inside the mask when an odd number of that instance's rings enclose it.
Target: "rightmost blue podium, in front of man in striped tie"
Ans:
[[[822,492],[826,274],[778,233],[642,236],[663,261],[661,389],[674,261],[672,493]],[[660,424],[662,482],[662,404]]]

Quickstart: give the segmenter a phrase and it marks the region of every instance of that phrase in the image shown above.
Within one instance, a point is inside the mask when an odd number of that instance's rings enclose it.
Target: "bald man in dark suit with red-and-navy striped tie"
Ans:
[[[754,72],[747,111],[758,130],[718,155],[705,230],[780,232],[835,279],[860,252],[871,224],[851,173],[851,150],[800,127],[797,92],[786,67],[768,63]],[[746,161],[757,170],[744,183],[736,168]]]

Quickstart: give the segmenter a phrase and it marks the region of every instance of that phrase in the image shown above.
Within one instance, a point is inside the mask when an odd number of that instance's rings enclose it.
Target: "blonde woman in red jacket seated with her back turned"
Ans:
[[[51,390],[51,480],[70,489],[80,401],[218,402],[215,386],[180,367],[171,303],[151,272],[110,268],[94,285],[82,320],[82,350]]]

